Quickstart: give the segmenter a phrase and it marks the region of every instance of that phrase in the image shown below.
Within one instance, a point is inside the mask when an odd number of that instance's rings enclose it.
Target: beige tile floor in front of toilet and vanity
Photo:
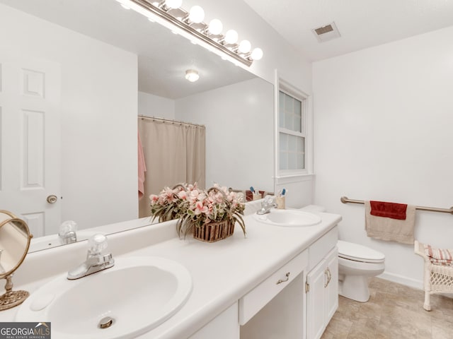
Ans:
[[[453,338],[452,298],[431,295],[428,312],[423,309],[422,290],[371,278],[369,292],[365,303],[340,296],[321,339]]]

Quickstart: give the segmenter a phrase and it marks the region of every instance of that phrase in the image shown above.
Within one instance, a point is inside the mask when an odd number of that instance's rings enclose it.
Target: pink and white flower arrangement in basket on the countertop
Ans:
[[[205,234],[204,227],[211,227],[214,224],[217,227],[218,223],[223,223],[222,225],[228,225],[231,228],[231,232],[216,228],[218,237],[223,239],[232,234],[236,222],[241,226],[243,234],[246,234],[242,218],[245,208],[243,194],[229,191],[226,187],[216,184],[204,191],[198,189],[197,184],[178,184],[173,189],[164,188],[159,196],[151,194],[149,198],[151,215],[154,218],[159,218],[159,221],[179,219],[177,223],[179,235],[186,235],[193,231],[195,236],[198,230],[202,230],[201,232]]]

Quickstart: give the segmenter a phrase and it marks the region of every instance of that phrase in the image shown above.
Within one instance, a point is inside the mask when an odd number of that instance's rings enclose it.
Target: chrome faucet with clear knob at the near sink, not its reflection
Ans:
[[[76,268],[69,270],[67,277],[69,280],[83,278],[86,275],[105,270],[115,265],[115,259],[113,259],[111,253],[102,254],[102,251],[107,248],[107,237],[105,235],[93,235],[93,237],[88,239],[88,246],[86,261]]]

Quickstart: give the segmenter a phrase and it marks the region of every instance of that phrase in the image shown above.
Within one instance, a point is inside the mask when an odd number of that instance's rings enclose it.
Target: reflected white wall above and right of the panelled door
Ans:
[[[137,218],[137,56],[4,5],[0,41],[61,64],[63,220]]]

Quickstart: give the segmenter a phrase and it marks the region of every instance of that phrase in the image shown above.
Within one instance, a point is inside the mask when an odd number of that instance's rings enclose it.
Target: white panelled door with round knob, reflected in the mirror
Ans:
[[[57,63],[0,50],[0,209],[35,237],[61,221],[60,78]]]

